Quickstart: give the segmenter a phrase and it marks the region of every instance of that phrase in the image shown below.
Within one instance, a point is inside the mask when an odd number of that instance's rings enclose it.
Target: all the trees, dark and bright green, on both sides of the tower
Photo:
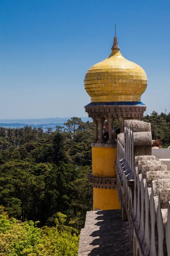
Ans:
[[[170,113],[153,111],[153,139],[170,145]],[[113,128],[119,128],[117,120]],[[56,131],[0,128],[0,256],[76,256],[92,209],[92,122],[73,117]]]

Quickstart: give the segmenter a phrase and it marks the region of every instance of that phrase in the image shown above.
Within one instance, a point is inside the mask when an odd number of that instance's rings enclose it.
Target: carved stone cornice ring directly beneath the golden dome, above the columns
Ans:
[[[124,119],[140,119],[146,105],[99,105],[85,106],[85,112],[91,118],[124,118]]]

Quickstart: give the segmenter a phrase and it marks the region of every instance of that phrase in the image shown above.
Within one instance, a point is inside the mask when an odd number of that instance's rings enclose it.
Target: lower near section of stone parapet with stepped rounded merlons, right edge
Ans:
[[[170,171],[155,157],[135,157],[134,202],[131,220],[134,240],[140,255],[166,254],[170,237],[165,236],[168,201],[170,201]]]

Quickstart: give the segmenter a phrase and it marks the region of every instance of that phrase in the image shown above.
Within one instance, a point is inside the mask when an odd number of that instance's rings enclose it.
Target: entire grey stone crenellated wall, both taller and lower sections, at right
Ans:
[[[150,124],[126,120],[117,140],[117,189],[134,256],[170,256],[170,171],[151,155]]]

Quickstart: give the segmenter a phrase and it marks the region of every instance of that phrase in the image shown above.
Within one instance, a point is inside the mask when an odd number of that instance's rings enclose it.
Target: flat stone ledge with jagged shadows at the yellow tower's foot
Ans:
[[[133,238],[120,210],[87,212],[78,256],[133,256]]]

